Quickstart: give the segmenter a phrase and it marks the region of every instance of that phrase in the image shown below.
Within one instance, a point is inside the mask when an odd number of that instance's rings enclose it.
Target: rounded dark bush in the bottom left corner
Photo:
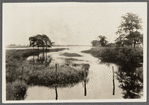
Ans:
[[[23,100],[27,91],[25,82],[15,81],[6,85],[6,100]]]

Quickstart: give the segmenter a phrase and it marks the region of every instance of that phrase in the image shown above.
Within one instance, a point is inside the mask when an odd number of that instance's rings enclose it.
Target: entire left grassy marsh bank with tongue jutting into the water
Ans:
[[[52,49],[48,52],[61,51]],[[89,65],[80,64],[79,69],[70,65],[58,65],[42,68],[39,64],[31,64],[25,59],[38,55],[42,50],[7,50],[6,51],[6,99],[23,100],[28,86],[58,86],[76,84],[88,75]]]

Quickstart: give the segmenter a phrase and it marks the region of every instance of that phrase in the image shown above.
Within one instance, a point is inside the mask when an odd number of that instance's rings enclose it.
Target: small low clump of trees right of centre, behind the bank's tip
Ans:
[[[108,43],[107,41],[107,38],[105,36],[98,36],[99,40],[93,40],[91,43],[92,43],[92,46],[102,46],[102,47],[105,47]]]

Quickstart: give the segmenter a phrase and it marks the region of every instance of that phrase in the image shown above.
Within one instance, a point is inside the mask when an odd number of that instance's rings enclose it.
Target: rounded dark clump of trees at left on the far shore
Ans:
[[[51,40],[49,39],[49,37],[47,35],[36,35],[36,36],[32,36],[32,37],[29,37],[29,41],[30,41],[30,47],[52,47],[53,45],[53,42],[51,42]]]

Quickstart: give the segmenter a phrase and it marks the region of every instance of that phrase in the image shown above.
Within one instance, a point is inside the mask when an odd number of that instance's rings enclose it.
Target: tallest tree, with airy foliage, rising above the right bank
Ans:
[[[118,27],[116,34],[116,44],[119,46],[134,46],[143,43],[143,34],[141,34],[142,20],[137,14],[127,13],[122,16],[121,25]]]

